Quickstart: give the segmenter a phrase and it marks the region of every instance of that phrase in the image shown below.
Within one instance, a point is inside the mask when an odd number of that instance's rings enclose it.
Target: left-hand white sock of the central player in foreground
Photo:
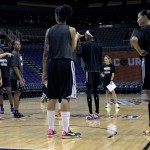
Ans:
[[[54,130],[55,111],[47,110],[47,120],[48,120],[49,129]]]

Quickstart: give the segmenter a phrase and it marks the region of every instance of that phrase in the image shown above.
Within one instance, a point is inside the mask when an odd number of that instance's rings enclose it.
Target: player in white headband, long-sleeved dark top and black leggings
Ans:
[[[87,88],[87,103],[89,108],[89,115],[87,120],[98,119],[99,115],[99,96],[97,92],[100,84],[100,68],[102,64],[102,49],[96,41],[93,31],[87,30],[85,32],[86,42],[81,44],[81,56],[85,62],[84,70],[86,72],[86,88]],[[92,110],[92,89],[95,101],[95,112]]]

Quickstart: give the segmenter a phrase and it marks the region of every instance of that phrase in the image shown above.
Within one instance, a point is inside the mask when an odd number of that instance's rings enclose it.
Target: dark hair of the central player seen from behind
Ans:
[[[62,5],[55,9],[55,14],[59,16],[59,21],[66,21],[73,13],[70,5]]]

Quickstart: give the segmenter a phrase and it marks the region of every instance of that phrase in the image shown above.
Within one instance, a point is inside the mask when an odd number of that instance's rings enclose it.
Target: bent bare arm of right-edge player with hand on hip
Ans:
[[[139,53],[139,55],[144,56],[147,53],[145,50],[140,48],[138,44],[138,38],[136,36],[133,36],[130,41],[134,49]]]

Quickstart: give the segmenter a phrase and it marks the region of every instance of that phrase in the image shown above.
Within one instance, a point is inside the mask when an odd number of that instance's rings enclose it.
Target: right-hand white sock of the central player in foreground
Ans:
[[[70,112],[61,112],[63,131],[68,132],[70,125]]]

